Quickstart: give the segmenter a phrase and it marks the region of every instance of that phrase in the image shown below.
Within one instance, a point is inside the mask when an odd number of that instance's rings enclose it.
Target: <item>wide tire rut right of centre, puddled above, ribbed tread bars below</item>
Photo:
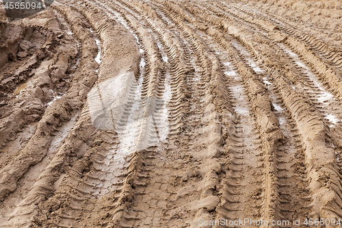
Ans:
[[[239,220],[239,218],[251,218],[257,220],[261,216],[260,206],[263,204],[261,197],[261,184],[263,183],[263,150],[261,134],[254,122],[252,105],[248,97],[248,86],[241,77],[240,68],[236,65],[232,55],[215,43],[215,39],[208,33],[209,44],[220,57],[224,65],[224,74],[229,77],[230,90],[235,99],[235,113],[233,123],[235,127],[228,129],[226,138],[226,151],[231,160],[229,172],[222,181],[222,203],[216,209],[216,219]],[[220,50],[220,51],[218,51]],[[245,62],[241,57],[241,62]],[[236,130],[235,130],[236,129]],[[247,171],[248,170],[248,171]],[[250,175],[250,174],[253,175]]]

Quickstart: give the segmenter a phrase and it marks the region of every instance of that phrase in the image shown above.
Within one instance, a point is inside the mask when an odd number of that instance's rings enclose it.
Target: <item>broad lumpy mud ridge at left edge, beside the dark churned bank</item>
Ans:
[[[29,73],[31,78],[29,78],[25,84],[17,88],[16,91],[14,91],[15,94],[12,95],[13,99],[9,103],[6,102],[7,105],[3,106],[3,111],[6,114],[3,113],[4,115],[1,116],[1,147],[4,147],[6,142],[14,140],[16,133],[23,129],[25,124],[36,122],[42,117],[46,108],[46,98],[51,97],[51,91],[53,90],[37,87],[49,85],[56,90],[57,86],[54,84],[65,76],[70,59],[77,55],[77,47],[71,44],[71,40],[68,41],[68,45],[70,45],[68,53],[64,53],[65,47],[62,47],[61,43],[57,47],[51,48],[53,42],[60,42],[60,40],[58,40],[58,38],[53,38],[53,34],[50,33],[47,42],[40,47],[38,52],[36,52],[27,63],[23,64],[24,66],[16,71],[17,74],[14,73],[14,76],[12,76],[13,78],[24,78],[21,75],[27,73],[27,71],[31,71],[31,73]],[[38,60],[39,55],[47,55],[47,53],[53,50],[57,53],[51,60],[44,60],[42,62]],[[36,66],[31,69],[32,65]],[[22,68],[25,68],[25,70]],[[49,75],[51,75],[51,78]],[[3,80],[3,82],[5,81],[6,80]],[[44,94],[46,97],[44,97]],[[25,104],[26,107],[21,107],[24,100],[27,101]],[[5,102],[3,104],[5,104]]]

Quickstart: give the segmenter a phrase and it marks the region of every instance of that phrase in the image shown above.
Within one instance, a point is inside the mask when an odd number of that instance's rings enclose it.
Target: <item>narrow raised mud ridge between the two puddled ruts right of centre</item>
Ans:
[[[224,44],[227,45],[227,44]],[[272,199],[271,197],[278,197],[278,183],[277,183],[277,155],[276,155],[276,142],[280,139],[282,139],[282,133],[280,129],[278,128],[278,120],[276,119],[276,116],[274,116],[272,112],[272,107],[270,105],[271,101],[269,101],[269,98],[266,97],[265,90],[263,88],[263,85],[257,79],[257,75],[255,75],[250,68],[247,68],[244,64],[241,64],[241,59],[239,58],[239,54],[237,51],[233,48],[233,46],[226,46],[226,51],[228,53],[232,53],[231,59],[235,61],[235,64],[237,64],[237,68],[239,69],[239,72],[241,75],[248,75],[247,77],[242,76],[243,80],[245,81],[245,84],[248,84],[248,95],[250,102],[252,103],[252,107],[257,113],[257,125],[260,127],[260,130],[263,134],[263,151],[265,151],[265,157],[264,157],[264,172],[265,176],[263,177],[263,184],[265,185],[265,192],[263,192],[263,210],[261,212],[263,218],[265,220],[279,220],[281,217],[279,214],[279,208],[278,208],[278,199]],[[227,49],[228,48],[228,49]],[[239,62],[239,63],[238,63]],[[242,59],[242,62],[243,59]],[[252,76],[253,75],[253,76]],[[253,81],[250,81],[253,80]],[[252,85],[254,86],[252,87]],[[259,91],[263,91],[261,94],[261,97],[257,97],[256,89]],[[258,100],[260,99],[260,100]],[[263,110],[261,106],[258,107],[259,104],[261,104],[261,99],[264,102],[264,105],[266,103],[268,104],[268,110]],[[255,102],[255,104],[253,104]],[[258,104],[258,105],[257,105]],[[266,105],[267,107],[267,105]],[[263,113],[267,112],[267,114]],[[265,116],[269,116],[268,120],[263,120]],[[265,121],[265,122],[264,122]],[[272,123],[272,121],[274,123]],[[271,122],[271,124],[269,124]],[[265,142],[265,140],[267,140]],[[270,141],[270,142],[269,142]],[[268,144],[269,143],[269,144]],[[267,148],[268,147],[268,148]],[[269,148],[270,147],[270,148]],[[275,164],[272,164],[272,163]],[[272,202],[272,203],[271,203]]]

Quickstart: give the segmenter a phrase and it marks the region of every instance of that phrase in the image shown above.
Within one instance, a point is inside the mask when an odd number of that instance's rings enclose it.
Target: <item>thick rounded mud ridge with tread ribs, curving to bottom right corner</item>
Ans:
[[[248,42],[246,45],[248,45]],[[252,47],[252,50],[254,51],[255,49],[253,48],[254,47]],[[258,53],[254,51],[254,55],[258,56]],[[263,58],[260,55],[258,57],[261,59]],[[263,62],[265,62],[265,60],[263,60]],[[336,164],[335,158],[334,158],[334,151],[330,149],[329,146],[328,147],[326,146],[326,141],[325,141],[326,129],[324,127],[324,124],[320,121],[320,116],[315,113],[310,113],[310,114],[307,113],[307,110],[310,110],[311,105],[308,105],[308,103],[303,103],[301,101],[303,97],[300,96],[300,94],[295,92],[293,88],[289,86],[289,82],[287,82],[287,79],[282,77],[282,75],[280,75],[276,71],[271,70],[270,68],[267,69],[267,72],[270,75],[272,75],[272,77],[274,77],[275,86],[278,90],[280,90],[282,99],[284,100],[287,108],[290,110],[293,119],[296,121],[300,134],[303,137],[304,144],[306,144],[306,151],[305,151],[306,167],[307,168],[309,167],[309,164],[311,164],[310,162],[313,162],[313,164],[316,164],[317,166],[321,167],[321,170],[316,171],[317,173],[313,170],[308,171],[308,177],[315,177],[317,175],[318,176],[326,175],[326,173],[324,173],[323,170],[326,170],[326,168],[330,167],[330,164],[332,164],[332,167],[331,167],[332,173],[330,177],[336,180],[339,179],[339,175],[336,173],[336,171],[334,171],[336,170],[336,165],[334,167],[334,164]],[[311,131],[304,130],[304,129],[307,129],[308,127],[311,128]],[[308,134],[308,132],[310,132],[310,134]],[[319,140],[316,140],[316,142],[308,141],[308,138],[311,138],[311,137],[321,138],[320,140],[321,144],[319,144]],[[313,147],[311,143],[315,145],[317,143],[320,145],[320,147]],[[321,152],[319,151],[324,151],[324,153],[326,153],[329,156],[330,160],[328,164],[319,163],[319,155],[321,154]],[[315,200],[311,204],[311,206],[316,205],[313,207],[313,212],[311,213],[311,216],[313,216],[313,218],[319,218],[319,217],[335,218],[335,216],[338,216],[337,214],[334,214],[336,210],[332,210],[334,211],[332,212],[331,210],[328,209],[329,207],[325,207],[325,206],[317,207],[317,201],[321,201],[323,205],[328,203],[325,199],[320,199],[320,197],[318,196],[320,195],[319,192],[321,191],[328,191],[328,192],[330,191],[331,192],[330,194],[334,196],[334,202],[339,202],[339,191],[340,191],[339,187],[335,187],[334,185],[327,186],[328,188],[325,188],[320,185],[313,187],[314,183],[315,181],[311,181],[309,185],[311,187],[311,192],[310,192],[311,196],[313,200]]]

